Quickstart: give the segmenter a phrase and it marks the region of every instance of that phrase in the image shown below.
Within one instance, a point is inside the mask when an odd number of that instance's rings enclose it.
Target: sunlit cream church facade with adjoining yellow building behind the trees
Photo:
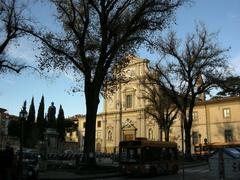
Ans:
[[[147,102],[142,97],[139,77],[148,71],[148,60],[129,56],[130,64],[124,70],[131,81],[119,83],[117,90],[104,100],[104,110],[97,115],[96,151],[116,152],[119,142],[145,137],[159,140],[159,127],[154,119],[147,116]],[[107,88],[106,88],[107,89]],[[78,132],[68,134],[72,141],[79,143],[83,150],[85,116],[76,115]],[[226,97],[218,100],[199,102],[193,112],[192,143],[240,141],[240,97]],[[180,116],[170,129],[170,141],[181,147]]]

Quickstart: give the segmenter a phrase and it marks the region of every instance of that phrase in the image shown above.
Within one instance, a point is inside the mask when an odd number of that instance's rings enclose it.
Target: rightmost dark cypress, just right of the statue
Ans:
[[[63,142],[65,139],[65,117],[62,105],[60,105],[57,117],[57,132],[59,133],[59,142]]]

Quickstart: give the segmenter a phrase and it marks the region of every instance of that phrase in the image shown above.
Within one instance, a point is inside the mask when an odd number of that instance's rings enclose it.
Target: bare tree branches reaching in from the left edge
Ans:
[[[0,74],[19,73],[28,67],[23,62],[10,58],[6,50],[26,34],[26,18],[23,17],[24,6],[17,0],[0,0]],[[29,29],[29,27],[27,28]]]

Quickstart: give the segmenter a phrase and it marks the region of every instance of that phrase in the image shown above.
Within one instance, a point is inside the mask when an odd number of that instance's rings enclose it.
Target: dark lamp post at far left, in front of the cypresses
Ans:
[[[19,161],[20,161],[20,178],[22,178],[22,172],[23,172],[23,122],[27,118],[26,101],[24,102],[22,110],[19,113],[19,118],[20,118],[20,152],[19,152]]]

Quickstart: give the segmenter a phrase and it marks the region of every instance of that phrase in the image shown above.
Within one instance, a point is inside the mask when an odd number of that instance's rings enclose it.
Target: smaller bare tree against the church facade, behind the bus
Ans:
[[[169,141],[170,128],[177,117],[178,109],[172,100],[164,94],[161,87],[155,84],[154,73],[147,73],[139,81],[143,94],[141,98],[147,102],[145,112],[157,122],[160,131],[160,141],[163,140],[163,132],[165,141]]]

